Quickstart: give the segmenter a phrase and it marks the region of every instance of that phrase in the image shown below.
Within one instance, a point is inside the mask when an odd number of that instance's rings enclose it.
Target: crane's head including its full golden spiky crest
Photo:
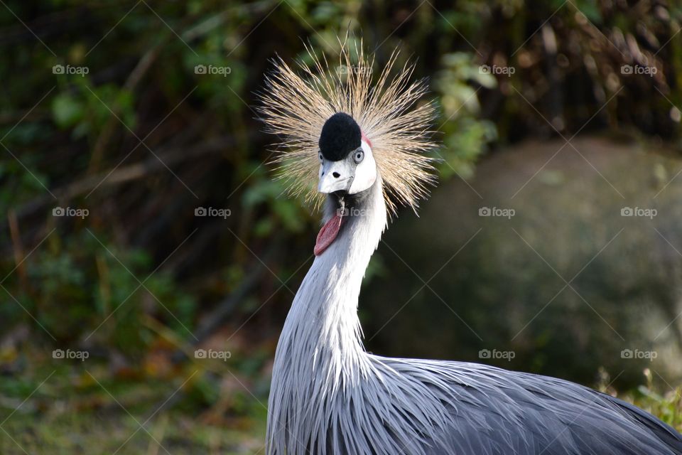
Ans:
[[[340,42],[342,72],[308,48],[312,63],[300,62],[301,73],[278,58],[266,75],[258,109],[266,131],[281,138],[278,176],[317,208],[330,193],[361,196],[380,183],[389,214],[401,204],[416,210],[435,183],[428,153],[438,147],[436,106],[421,101],[426,82],[410,82],[414,67],[398,64],[397,49],[377,75],[374,55],[354,43]]]

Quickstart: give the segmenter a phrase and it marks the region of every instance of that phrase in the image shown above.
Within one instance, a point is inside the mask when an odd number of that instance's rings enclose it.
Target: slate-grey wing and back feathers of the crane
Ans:
[[[573,382],[474,363],[381,360],[413,379],[421,371],[418,380],[448,409],[429,454],[682,454],[682,436],[664,422]]]

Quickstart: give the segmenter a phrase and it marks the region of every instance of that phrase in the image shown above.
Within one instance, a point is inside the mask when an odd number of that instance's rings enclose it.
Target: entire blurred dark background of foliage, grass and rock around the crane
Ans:
[[[367,349],[559,376],[679,428],[681,20],[678,1],[0,2],[2,453],[262,449],[319,221],[273,178],[256,92],[274,56],[333,60],[347,32],[375,73],[396,48],[416,64],[442,143],[433,197],[367,271]]]

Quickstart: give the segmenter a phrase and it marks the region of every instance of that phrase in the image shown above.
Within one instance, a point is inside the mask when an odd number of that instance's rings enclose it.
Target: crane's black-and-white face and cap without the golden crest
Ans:
[[[350,115],[337,112],[329,117],[318,144],[320,193],[360,193],[377,181],[371,142]]]

